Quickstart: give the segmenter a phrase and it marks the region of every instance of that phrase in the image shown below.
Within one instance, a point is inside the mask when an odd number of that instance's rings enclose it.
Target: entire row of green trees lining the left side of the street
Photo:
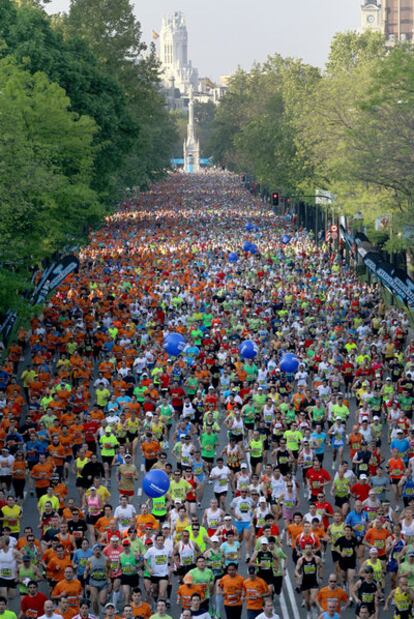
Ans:
[[[169,165],[175,124],[129,0],[0,3],[0,312],[30,268]]]

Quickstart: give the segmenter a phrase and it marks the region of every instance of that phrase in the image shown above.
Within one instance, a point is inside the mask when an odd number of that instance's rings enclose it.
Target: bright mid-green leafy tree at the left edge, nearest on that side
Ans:
[[[27,285],[33,264],[102,216],[91,188],[97,127],[69,108],[63,89],[45,74],[32,75],[11,58],[0,61],[0,279],[5,289],[11,279]]]

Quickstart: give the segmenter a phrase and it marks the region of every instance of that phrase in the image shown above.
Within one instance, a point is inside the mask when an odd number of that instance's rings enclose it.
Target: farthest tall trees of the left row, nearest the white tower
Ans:
[[[68,36],[80,36],[88,44],[99,66],[121,85],[134,131],[120,182],[147,186],[169,167],[177,137],[159,91],[155,47],[142,43],[129,0],[72,0],[64,27]]]

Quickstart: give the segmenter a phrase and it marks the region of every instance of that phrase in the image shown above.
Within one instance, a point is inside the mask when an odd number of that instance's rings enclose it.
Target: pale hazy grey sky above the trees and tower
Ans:
[[[116,0],[112,0],[116,2]],[[322,66],[336,32],[359,27],[361,0],[134,0],[144,39],[159,32],[161,18],[182,11],[188,28],[189,58],[200,76],[249,69],[268,54],[296,56]],[[52,0],[49,12],[66,10],[69,0]]]

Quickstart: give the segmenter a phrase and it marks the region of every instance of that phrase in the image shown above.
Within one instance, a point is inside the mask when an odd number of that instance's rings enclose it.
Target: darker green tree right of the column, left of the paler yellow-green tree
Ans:
[[[231,79],[213,122],[214,159],[283,194],[306,185],[311,162],[297,147],[296,119],[317,69],[275,55]]]

